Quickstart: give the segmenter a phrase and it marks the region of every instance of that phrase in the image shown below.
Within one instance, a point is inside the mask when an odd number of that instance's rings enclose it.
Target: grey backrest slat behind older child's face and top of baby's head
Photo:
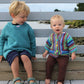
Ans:
[[[84,12],[31,12],[28,21],[50,20],[56,14],[62,15],[65,20],[84,20]],[[0,21],[11,20],[12,18],[8,12],[0,12]]]

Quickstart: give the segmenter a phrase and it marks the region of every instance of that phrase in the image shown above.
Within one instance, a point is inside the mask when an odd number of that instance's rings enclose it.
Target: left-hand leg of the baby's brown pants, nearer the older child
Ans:
[[[53,67],[56,63],[56,59],[48,56],[47,62],[46,62],[46,79],[51,79]]]

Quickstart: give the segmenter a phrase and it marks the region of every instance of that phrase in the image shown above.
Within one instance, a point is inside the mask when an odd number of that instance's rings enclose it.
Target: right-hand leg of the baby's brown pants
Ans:
[[[58,63],[58,68],[59,68],[57,81],[62,82],[62,84],[64,84],[69,57],[68,56],[67,57],[66,56],[60,56],[56,60]]]

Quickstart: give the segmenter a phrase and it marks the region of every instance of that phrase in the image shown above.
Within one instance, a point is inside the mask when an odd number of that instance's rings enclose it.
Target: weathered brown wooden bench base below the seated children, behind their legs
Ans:
[[[34,77],[37,80],[44,80],[45,79],[45,63],[46,59],[37,59],[32,62],[33,64],[33,74]],[[69,65],[67,67],[67,73],[66,73],[66,80],[82,80],[84,79],[84,57],[79,57],[75,59],[74,61],[70,61]],[[9,68],[9,69],[8,69]],[[3,70],[3,71],[2,71]],[[20,66],[20,77],[23,80],[26,80],[27,75],[25,70],[23,69],[23,66]],[[23,75],[24,74],[24,75]],[[58,74],[58,67],[57,64],[54,67],[54,71],[52,73],[52,80],[57,79]],[[2,76],[3,75],[3,76]],[[39,77],[40,75],[40,77]],[[0,80],[12,80],[13,75],[11,73],[11,69],[7,62],[0,63]]]

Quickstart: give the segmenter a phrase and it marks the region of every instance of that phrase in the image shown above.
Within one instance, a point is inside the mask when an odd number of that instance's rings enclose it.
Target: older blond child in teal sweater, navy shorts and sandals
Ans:
[[[19,61],[27,73],[28,84],[36,84],[32,75],[31,59],[35,57],[35,36],[32,28],[25,22],[30,13],[23,1],[13,1],[9,7],[12,22],[8,22],[0,36],[0,61],[2,56],[8,61],[14,76],[13,84],[22,84],[19,77]]]

